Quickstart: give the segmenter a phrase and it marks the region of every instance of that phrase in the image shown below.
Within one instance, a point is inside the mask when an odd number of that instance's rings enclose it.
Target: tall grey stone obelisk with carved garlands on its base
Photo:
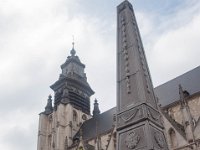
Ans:
[[[168,150],[132,5],[117,7],[117,150]]]

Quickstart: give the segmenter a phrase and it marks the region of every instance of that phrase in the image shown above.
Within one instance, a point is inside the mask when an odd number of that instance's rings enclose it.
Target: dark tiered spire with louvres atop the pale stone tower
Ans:
[[[72,42],[71,56],[61,65],[59,79],[51,85],[55,92],[54,108],[60,104],[71,104],[74,108],[90,114],[90,96],[94,94],[85,73],[85,65],[80,61]]]

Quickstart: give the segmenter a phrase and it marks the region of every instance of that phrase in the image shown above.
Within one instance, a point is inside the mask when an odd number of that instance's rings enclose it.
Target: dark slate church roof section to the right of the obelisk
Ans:
[[[189,92],[190,95],[200,92],[200,66],[154,89],[162,107],[172,104],[180,99],[179,84],[181,84],[183,90]]]

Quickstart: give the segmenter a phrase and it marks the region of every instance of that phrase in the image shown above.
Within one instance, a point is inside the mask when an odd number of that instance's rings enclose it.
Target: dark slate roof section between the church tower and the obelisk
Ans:
[[[98,135],[104,134],[113,129],[113,116],[116,113],[116,108],[112,108],[96,117],[85,121],[81,127],[83,140],[95,138]],[[79,132],[76,137],[79,137]]]

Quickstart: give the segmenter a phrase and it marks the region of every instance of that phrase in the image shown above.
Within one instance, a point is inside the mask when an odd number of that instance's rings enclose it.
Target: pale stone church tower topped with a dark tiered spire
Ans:
[[[54,108],[49,96],[45,111],[40,113],[38,150],[65,150],[82,123],[91,118],[90,96],[94,92],[84,68],[73,46],[71,56],[61,65],[59,79],[50,86],[55,95]]]

